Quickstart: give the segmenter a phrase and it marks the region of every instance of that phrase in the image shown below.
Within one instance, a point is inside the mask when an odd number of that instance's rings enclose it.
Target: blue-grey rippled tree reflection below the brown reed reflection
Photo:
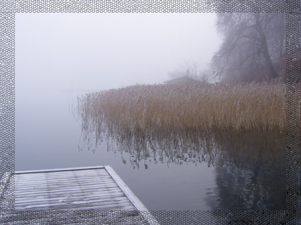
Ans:
[[[216,170],[216,184],[206,199],[214,210],[285,210],[285,174],[258,162],[233,163]]]

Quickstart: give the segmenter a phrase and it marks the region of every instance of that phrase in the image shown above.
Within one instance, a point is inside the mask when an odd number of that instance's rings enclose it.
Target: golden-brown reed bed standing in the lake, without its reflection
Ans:
[[[285,85],[251,82],[132,85],[78,98],[83,124],[121,135],[163,132],[286,130]]]

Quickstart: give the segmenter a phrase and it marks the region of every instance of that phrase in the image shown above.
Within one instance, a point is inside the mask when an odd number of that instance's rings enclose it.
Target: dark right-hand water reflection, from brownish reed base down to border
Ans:
[[[213,209],[285,210],[284,134],[277,131],[227,133],[219,140],[219,146],[227,157],[219,160],[217,187],[207,198]]]

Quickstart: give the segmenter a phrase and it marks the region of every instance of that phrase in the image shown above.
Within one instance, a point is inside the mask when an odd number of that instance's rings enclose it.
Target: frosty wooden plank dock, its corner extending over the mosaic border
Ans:
[[[2,184],[9,180],[15,210],[138,210],[159,224],[110,166],[5,173]]]

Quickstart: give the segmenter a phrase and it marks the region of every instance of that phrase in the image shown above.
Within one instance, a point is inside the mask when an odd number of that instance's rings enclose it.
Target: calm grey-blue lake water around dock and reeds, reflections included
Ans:
[[[17,171],[110,165],[149,210],[285,210],[284,134],[120,140],[82,127],[87,92],[16,95]]]

